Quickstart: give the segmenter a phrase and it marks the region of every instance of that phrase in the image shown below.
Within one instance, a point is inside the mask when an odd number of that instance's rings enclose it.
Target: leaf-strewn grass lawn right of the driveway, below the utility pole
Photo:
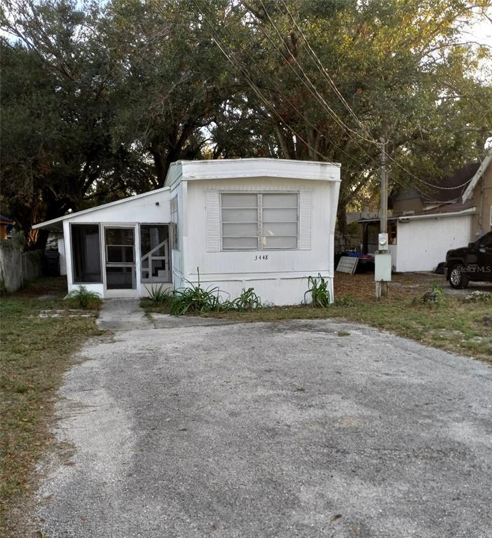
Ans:
[[[329,308],[292,306],[204,315],[240,322],[329,317],[348,319],[492,363],[492,303],[464,303],[463,296],[474,288],[446,295],[439,305],[414,303],[414,298],[420,298],[435,286],[451,292],[449,284],[439,275],[393,275],[388,298],[377,300],[374,297],[374,275],[336,273],[336,304]],[[492,287],[483,287],[483,290],[492,291]],[[170,304],[160,307],[145,299],[142,307],[150,314],[169,313]]]

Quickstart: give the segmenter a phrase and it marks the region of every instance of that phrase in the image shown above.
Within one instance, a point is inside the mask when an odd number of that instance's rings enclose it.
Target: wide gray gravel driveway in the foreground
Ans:
[[[82,350],[46,538],[492,536],[490,366],[332,320],[187,323]]]

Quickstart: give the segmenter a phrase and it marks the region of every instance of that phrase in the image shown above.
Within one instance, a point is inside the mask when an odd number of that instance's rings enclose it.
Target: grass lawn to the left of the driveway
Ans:
[[[71,355],[97,333],[96,312],[69,311],[66,294],[63,277],[45,278],[0,299],[0,536],[22,535],[14,509],[34,488],[34,467],[53,442],[56,390]],[[62,312],[39,317],[41,310]]]

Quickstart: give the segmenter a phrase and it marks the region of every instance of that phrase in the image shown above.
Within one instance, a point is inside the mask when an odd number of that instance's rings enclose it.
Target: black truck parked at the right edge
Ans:
[[[466,288],[470,280],[492,282],[492,232],[467,247],[446,254],[446,279],[452,288]]]

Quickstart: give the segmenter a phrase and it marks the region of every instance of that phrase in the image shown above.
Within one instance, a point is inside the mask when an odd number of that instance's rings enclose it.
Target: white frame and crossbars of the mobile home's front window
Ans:
[[[223,209],[236,209],[236,208],[228,208],[228,207],[222,207],[222,196],[228,195],[228,194],[244,194],[244,195],[256,195],[257,197],[257,207],[256,208],[237,208],[237,209],[257,209],[257,247],[234,247],[234,248],[224,248],[224,221],[222,220],[222,210]],[[296,207],[278,207],[278,208],[266,208],[266,209],[296,209],[296,235],[278,235],[277,237],[295,237],[296,238],[296,246],[295,247],[267,247],[264,244],[264,234],[263,234],[263,226],[264,226],[264,219],[263,219],[263,196],[264,195],[282,195],[282,194],[290,194],[290,195],[296,195],[297,204]],[[243,252],[243,251],[269,251],[269,250],[299,250],[299,240],[300,240],[300,232],[299,232],[299,225],[300,225],[300,219],[301,219],[301,196],[300,191],[220,191],[219,192],[219,232],[220,232],[220,249],[222,252]],[[271,221],[268,221],[271,223]],[[253,223],[253,222],[252,222]],[[290,222],[281,222],[278,223],[294,223],[293,221]],[[226,224],[235,224],[235,222],[226,222]],[[236,223],[237,224],[237,223]],[[226,238],[252,238],[255,236],[245,235],[245,236],[226,236]]]

